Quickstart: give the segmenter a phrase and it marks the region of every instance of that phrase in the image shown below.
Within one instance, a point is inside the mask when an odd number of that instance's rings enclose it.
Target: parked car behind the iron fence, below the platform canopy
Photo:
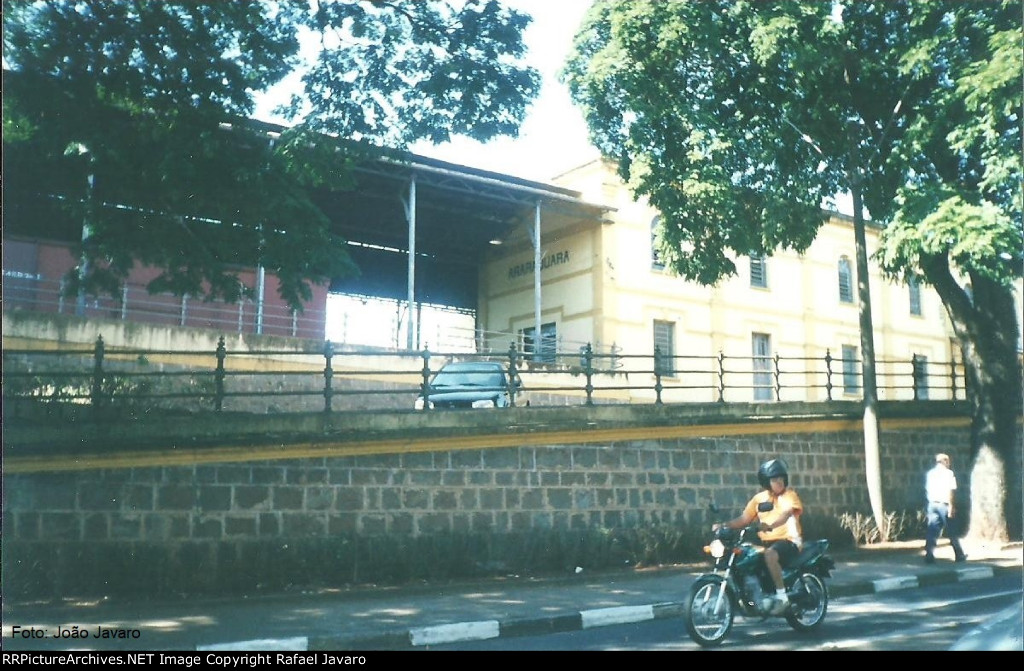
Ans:
[[[426,399],[420,394],[415,408],[510,408],[528,406],[522,380],[501,362],[453,362],[430,380]]]

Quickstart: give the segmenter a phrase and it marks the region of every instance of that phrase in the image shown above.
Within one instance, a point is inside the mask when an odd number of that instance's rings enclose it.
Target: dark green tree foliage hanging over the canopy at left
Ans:
[[[514,135],[540,89],[528,22],[498,0],[4,0],[5,223],[85,224],[70,293],[145,263],[151,291],[236,300],[262,265],[301,309],[357,271],[313,192],[416,139]],[[293,74],[293,125],[250,122]]]

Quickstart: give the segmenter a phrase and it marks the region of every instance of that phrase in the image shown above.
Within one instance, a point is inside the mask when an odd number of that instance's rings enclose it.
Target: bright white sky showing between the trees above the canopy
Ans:
[[[557,73],[568,54],[575,29],[592,0],[506,0],[505,4],[532,20],[523,40],[526,61],[543,77],[541,94],[527,111],[518,137],[501,137],[487,143],[457,138],[444,144],[418,142],[411,150],[459,165],[550,181],[555,175],[597,158],[587,139],[587,126],[569,101],[568,88],[558,83]],[[286,79],[283,90],[294,86]],[[280,100],[275,90],[258,101],[256,118],[275,121],[269,110]]]

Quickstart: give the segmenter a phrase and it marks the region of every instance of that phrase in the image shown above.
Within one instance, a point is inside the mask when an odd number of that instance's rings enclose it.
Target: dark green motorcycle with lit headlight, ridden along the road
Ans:
[[[771,508],[770,502],[758,506],[759,512]],[[828,612],[825,579],[836,567],[827,554],[828,541],[805,541],[797,558],[783,568],[790,605],[781,616],[772,616],[769,611],[775,585],[765,565],[764,548],[748,540],[756,538],[757,529],[757,525],[739,531],[720,527],[703,548],[712,556],[714,569],[693,582],[683,613],[686,631],[702,647],[720,644],[732,629],[736,614],[762,622],[782,617],[801,632],[814,631],[824,622]]]

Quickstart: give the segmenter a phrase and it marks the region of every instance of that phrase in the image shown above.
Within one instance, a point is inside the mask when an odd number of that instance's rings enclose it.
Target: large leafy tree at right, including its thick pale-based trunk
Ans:
[[[563,77],[687,280],[803,251],[862,195],[881,267],[935,286],[959,339],[970,533],[1019,537],[1020,3],[604,2]]]

